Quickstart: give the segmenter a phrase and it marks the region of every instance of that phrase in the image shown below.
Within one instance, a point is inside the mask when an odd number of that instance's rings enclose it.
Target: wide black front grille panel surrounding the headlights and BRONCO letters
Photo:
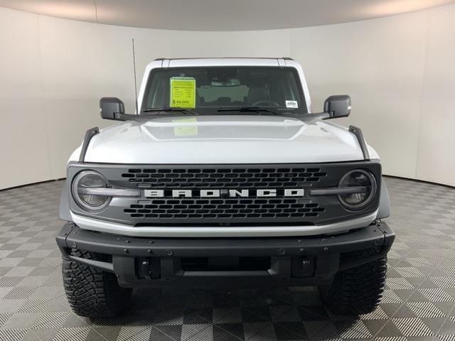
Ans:
[[[312,189],[333,188],[354,169],[364,169],[380,181],[380,165],[370,161],[341,163],[277,163],[220,165],[72,164],[68,179],[83,169],[102,173],[114,188],[139,188],[140,197],[115,197],[104,210],[87,213],[72,202],[72,210],[98,220],[146,226],[310,226],[350,220],[374,212],[379,195],[365,210],[346,210],[336,195],[311,195]],[[260,196],[257,190],[276,190]],[[299,197],[286,189],[303,189]],[[146,195],[163,190],[164,196]],[[172,190],[191,190],[191,197]],[[200,190],[220,190],[220,197],[201,196]],[[248,190],[230,196],[229,190]],[[379,192],[378,192],[379,194]]]

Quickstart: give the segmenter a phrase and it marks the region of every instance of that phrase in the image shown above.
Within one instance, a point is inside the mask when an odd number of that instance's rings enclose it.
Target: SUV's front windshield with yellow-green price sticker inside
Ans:
[[[141,112],[173,107],[222,114],[220,109],[259,107],[306,113],[301,89],[294,67],[158,68],[149,76]]]

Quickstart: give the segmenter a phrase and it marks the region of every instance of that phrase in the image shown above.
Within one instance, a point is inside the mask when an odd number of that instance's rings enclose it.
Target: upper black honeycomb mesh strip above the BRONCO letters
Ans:
[[[131,168],[122,178],[141,188],[293,188],[316,183],[321,168]]]

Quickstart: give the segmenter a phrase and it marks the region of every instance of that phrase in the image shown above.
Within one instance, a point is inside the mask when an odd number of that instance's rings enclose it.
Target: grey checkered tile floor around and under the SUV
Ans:
[[[387,178],[397,239],[380,308],[329,313],[315,288],[135,291],[124,318],[73,314],[54,235],[62,181],[0,192],[0,340],[455,340],[455,190]]]

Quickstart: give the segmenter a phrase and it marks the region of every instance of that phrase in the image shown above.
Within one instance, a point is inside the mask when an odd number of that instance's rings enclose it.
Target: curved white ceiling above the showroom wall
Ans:
[[[0,0],[0,6],[94,23],[183,31],[250,31],[346,23],[454,0]]]

